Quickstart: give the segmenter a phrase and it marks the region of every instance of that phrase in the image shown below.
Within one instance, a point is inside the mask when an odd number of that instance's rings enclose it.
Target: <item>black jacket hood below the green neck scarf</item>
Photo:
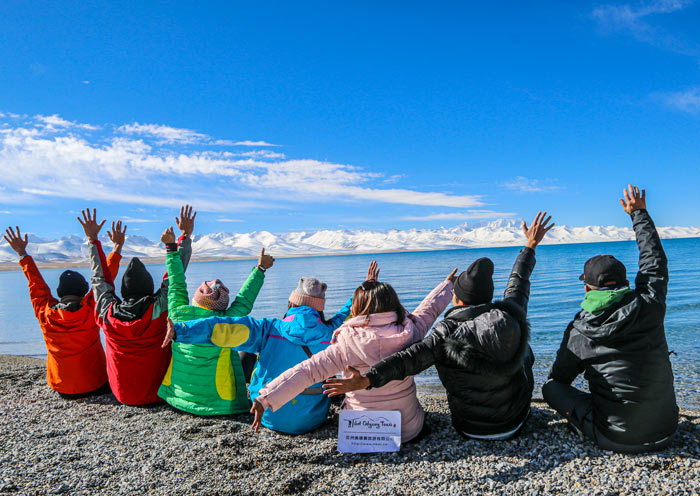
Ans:
[[[624,334],[634,328],[642,304],[634,291],[624,295],[616,304],[606,308],[602,313],[592,314],[581,310],[573,321],[574,328],[591,340],[603,340]]]

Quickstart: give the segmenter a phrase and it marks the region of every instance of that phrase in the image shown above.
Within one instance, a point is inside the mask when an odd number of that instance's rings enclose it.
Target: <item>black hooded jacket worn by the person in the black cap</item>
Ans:
[[[549,377],[571,384],[585,372],[595,427],[612,441],[636,445],[673,434],[678,406],[664,330],[666,254],[646,210],[632,212],[632,223],[639,247],[635,290],[602,314],[576,315]]]

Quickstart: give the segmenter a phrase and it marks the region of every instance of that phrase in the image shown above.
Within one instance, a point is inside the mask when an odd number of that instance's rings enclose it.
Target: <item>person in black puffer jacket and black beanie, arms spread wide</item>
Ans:
[[[423,341],[371,367],[365,376],[329,379],[330,396],[382,387],[435,365],[447,390],[452,424],[467,438],[509,439],[530,413],[534,355],[526,319],[535,248],[554,224],[539,212],[528,228],[502,301],[493,299],[493,262],[480,258],[454,284],[454,307]],[[545,220],[546,218],[546,220]]]

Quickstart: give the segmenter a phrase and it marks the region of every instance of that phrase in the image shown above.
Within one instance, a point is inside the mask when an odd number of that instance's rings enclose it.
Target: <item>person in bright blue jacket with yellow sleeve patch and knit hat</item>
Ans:
[[[268,382],[331,344],[333,332],[350,314],[352,298],[328,320],[323,315],[325,302],[326,284],[314,277],[302,277],[289,296],[283,319],[207,317],[171,323],[171,337],[178,343],[213,344],[257,353],[258,363],[248,387],[254,400]],[[276,412],[265,412],[262,425],[287,434],[303,434],[318,428],[329,409],[330,399],[323,394],[320,383],[314,384]]]

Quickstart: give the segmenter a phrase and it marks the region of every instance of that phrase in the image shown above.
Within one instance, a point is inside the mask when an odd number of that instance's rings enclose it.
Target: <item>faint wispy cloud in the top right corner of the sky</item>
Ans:
[[[672,14],[694,3],[694,0],[652,0],[637,4],[608,4],[596,7],[591,16],[608,32],[625,32],[635,39],[677,53],[698,56],[700,47],[669,34],[653,23],[654,16]]]

